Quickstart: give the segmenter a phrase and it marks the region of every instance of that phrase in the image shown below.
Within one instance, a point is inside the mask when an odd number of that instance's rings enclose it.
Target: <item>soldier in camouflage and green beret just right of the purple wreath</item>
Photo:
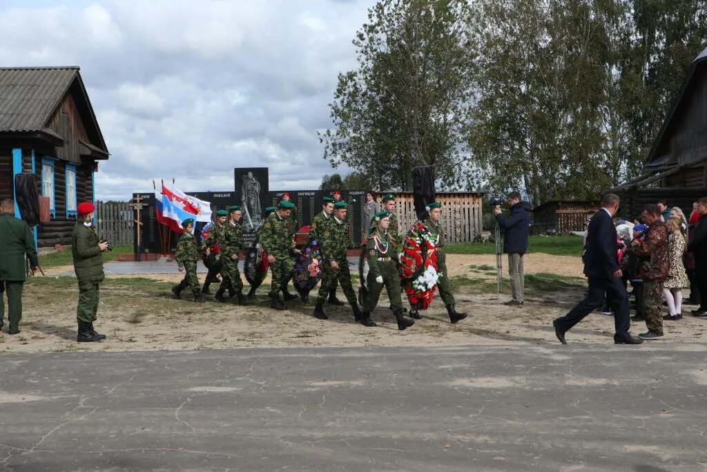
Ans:
[[[346,211],[349,205],[346,202],[336,202],[334,204],[334,214],[332,221],[327,224],[325,231],[321,234],[322,248],[322,285],[319,289],[319,298],[314,310],[314,316],[320,320],[328,317],[322,308],[329,294],[329,288],[334,280],[341,283],[346,300],[354,310],[354,319],[361,321],[361,311],[358,309],[354,287],[351,285],[351,272],[349,272],[349,262],[346,260],[346,249],[358,247],[349,238],[349,227],[346,225]]]

